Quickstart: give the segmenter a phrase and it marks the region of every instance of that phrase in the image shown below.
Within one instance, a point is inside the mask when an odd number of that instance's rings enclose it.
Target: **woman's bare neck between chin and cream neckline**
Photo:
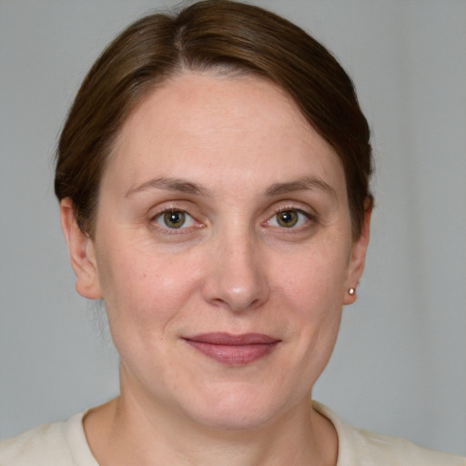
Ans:
[[[263,425],[233,430],[199,425],[140,395],[122,386],[117,399],[86,416],[86,437],[102,466],[336,464],[336,431],[310,396]]]

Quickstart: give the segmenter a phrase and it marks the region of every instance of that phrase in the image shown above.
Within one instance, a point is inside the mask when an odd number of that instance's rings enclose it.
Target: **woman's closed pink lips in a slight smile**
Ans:
[[[230,366],[242,366],[258,360],[280,342],[279,339],[260,333],[204,333],[185,340],[209,358]]]

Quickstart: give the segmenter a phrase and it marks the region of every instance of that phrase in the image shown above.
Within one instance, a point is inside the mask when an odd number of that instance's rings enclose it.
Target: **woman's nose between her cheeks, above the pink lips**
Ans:
[[[249,236],[223,236],[210,250],[203,286],[204,299],[209,303],[239,312],[256,309],[267,301],[267,261]]]

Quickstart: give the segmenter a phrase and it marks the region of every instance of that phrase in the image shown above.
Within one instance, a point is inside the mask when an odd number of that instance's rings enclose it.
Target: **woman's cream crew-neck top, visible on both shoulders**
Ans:
[[[466,466],[466,458],[355,429],[316,401],[314,408],[333,423],[338,433],[337,466]],[[98,466],[87,445],[85,414],[81,412],[64,422],[45,424],[0,442],[0,466]]]

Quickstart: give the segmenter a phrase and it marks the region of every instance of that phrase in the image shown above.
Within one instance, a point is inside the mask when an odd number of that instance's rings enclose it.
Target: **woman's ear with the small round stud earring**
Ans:
[[[369,245],[370,236],[370,216],[372,214],[372,201],[368,200],[366,209],[364,210],[364,220],[360,238],[353,242],[351,248],[351,257],[349,258],[348,277],[346,280],[346,288],[343,290],[343,304],[352,304],[357,299],[357,293],[349,294],[349,289],[356,289],[360,282],[360,277],[364,270],[366,261],[366,252]]]

